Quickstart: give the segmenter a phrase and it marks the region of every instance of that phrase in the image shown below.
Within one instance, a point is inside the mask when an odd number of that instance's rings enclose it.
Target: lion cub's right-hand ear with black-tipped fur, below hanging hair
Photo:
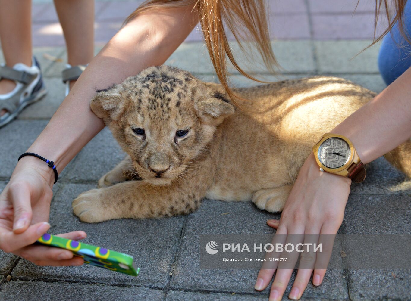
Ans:
[[[219,124],[222,120],[234,113],[234,105],[221,92],[214,92],[212,97],[199,99],[196,103],[196,109],[200,117],[212,124]]]

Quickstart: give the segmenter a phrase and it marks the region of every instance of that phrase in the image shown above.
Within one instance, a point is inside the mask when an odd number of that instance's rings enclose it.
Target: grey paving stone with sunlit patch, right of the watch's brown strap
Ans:
[[[399,194],[411,196],[411,180],[407,179],[402,172],[390,165],[384,157],[369,163],[366,169],[367,178],[364,182],[351,185],[351,195]]]

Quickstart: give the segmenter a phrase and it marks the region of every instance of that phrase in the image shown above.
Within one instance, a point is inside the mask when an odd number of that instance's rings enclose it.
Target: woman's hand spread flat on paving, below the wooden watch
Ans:
[[[280,221],[270,220],[267,222],[268,225],[277,228],[274,239],[278,234],[285,234],[284,237],[289,234],[336,234],[344,218],[350,184],[351,179],[349,178],[321,172],[315,162],[314,155],[311,154],[298,174],[296,183],[282,211]],[[330,252],[329,249],[326,253],[330,254]],[[329,261],[328,254],[325,254],[326,266]],[[311,257],[311,260],[315,261],[315,258]],[[318,260],[319,258],[317,258]],[[314,267],[314,264],[312,266]],[[270,283],[274,272],[275,269],[261,269],[255,289],[264,290]],[[270,301],[282,299],[292,272],[292,269],[277,269],[271,286]],[[298,300],[301,298],[312,272],[312,269],[298,270],[289,294],[290,299]],[[314,269],[313,285],[320,285],[325,273],[326,269]]]

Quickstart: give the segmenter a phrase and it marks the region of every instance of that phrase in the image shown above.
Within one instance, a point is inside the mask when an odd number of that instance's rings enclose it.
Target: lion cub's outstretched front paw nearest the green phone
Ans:
[[[73,211],[81,221],[98,223],[111,219],[104,211],[102,189],[92,189],[81,193],[72,203]]]

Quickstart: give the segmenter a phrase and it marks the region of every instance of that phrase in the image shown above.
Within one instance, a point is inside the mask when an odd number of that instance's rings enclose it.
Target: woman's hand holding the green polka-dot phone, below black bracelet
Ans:
[[[36,160],[21,159],[0,194],[0,249],[38,265],[81,265],[83,260],[73,258],[68,250],[32,245],[50,228],[47,221],[54,182],[51,169]],[[79,240],[86,234],[76,231],[59,236]]]

